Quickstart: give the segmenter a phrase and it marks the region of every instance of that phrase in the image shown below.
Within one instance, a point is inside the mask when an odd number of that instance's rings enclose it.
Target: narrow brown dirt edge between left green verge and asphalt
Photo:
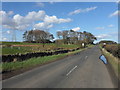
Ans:
[[[73,56],[73,55],[77,54],[78,52],[82,52],[82,51],[84,51],[86,49],[89,49],[89,48],[92,48],[92,47],[93,46],[90,46],[90,47],[87,47],[87,48],[83,48],[83,49],[79,49],[79,50],[76,50],[76,51],[73,51],[73,52],[65,53],[61,57],[58,57],[58,58],[56,58],[54,60],[49,60],[49,61],[47,61],[45,63],[42,63],[42,64],[40,63],[40,64],[37,64],[37,65],[30,65],[28,67],[24,67],[24,68],[19,68],[19,69],[12,70],[12,71],[3,72],[2,73],[2,80],[10,78],[10,77],[13,77],[13,76],[21,74],[21,73],[24,73],[24,72],[29,71],[29,70],[34,69],[34,68],[37,68],[37,67],[40,67],[40,66],[43,66],[43,65],[46,65],[46,64],[58,61],[58,60],[62,60],[64,58],[68,57],[68,56]],[[62,54],[59,54],[59,55],[62,55]]]

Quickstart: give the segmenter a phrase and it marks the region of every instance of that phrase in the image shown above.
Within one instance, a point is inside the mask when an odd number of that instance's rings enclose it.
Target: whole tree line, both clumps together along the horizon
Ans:
[[[57,31],[58,39],[53,41],[54,35],[44,30],[25,31],[23,39],[26,42],[35,43],[61,43],[61,44],[93,44],[97,38],[90,32],[78,32],[74,30]]]

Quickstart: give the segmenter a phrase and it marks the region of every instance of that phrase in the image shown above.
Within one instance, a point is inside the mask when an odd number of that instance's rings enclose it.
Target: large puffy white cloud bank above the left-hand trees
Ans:
[[[0,14],[2,14],[2,18],[0,18],[0,20],[2,20],[3,28],[13,30],[24,30],[29,26],[33,26],[33,23],[36,21],[40,23],[35,24],[34,27],[41,27],[43,29],[49,29],[53,27],[54,24],[67,23],[71,21],[70,18],[63,19],[58,18],[57,16],[48,16],[43,10],[38,12],[28,12],[26,16],[16,14],[13,17],[9,17],[5,11],[0,11]]]

